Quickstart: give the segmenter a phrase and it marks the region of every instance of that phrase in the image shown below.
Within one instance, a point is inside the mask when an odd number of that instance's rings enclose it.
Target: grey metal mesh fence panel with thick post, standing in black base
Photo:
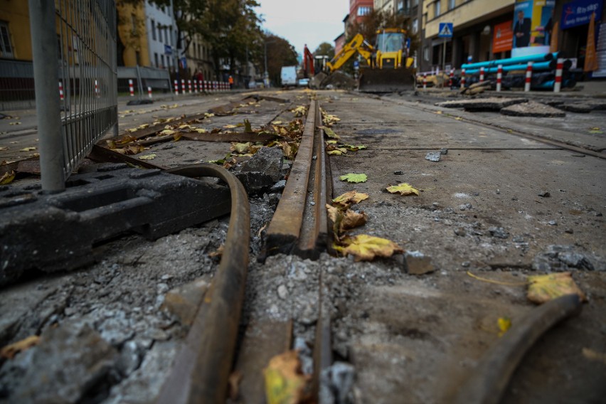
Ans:
[[[95,142],[117,133],[116,5],[29,0],[29,10],[42,188],[62,191]]]

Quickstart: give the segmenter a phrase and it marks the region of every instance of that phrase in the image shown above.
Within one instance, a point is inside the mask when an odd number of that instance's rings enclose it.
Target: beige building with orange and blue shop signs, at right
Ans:
[[[543,11],[538,16],[533,12],[534,28],[529,34],[528,46],[549,46],[551,27],[557,21],[556,48],[564,58],[578,60],[578,65],[583,63],[589,16],[595,13],[597,58],[603,59],[602,64],[606,65],[606,45],[601,50],[598,38],[602,33],[605,36],[602,43],[606,44],[606,27],[597,28],[606,21],[603,0],[425,0],[420,71],[460,68],[469,60],[482,62],[511,57],[516,47],[515,20],[524,4],[529,9],[551,11]],[[438,36],[440,23],[452,23],[452,38]]]

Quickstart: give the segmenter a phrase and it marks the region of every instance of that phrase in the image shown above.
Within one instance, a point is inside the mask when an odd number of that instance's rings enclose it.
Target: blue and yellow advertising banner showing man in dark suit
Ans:
[[[549,52],[555,0],[516,1],[511,57]]]

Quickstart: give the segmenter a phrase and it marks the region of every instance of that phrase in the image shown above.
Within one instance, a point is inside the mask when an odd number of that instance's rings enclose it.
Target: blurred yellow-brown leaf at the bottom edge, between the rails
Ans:
[[[309,376],[301,371],[297,351],[287,351],[271,358],[265,376],[265,398],[267,404],[297,404],[305,398]]]

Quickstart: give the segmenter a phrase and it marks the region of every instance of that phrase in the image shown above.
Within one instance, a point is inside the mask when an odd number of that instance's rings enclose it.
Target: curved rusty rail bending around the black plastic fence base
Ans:
[[[225,181],[231,191],[231,218],[223,257],[211,289],[198,308],[186,343],[156,402],[225,403],[248,272],[248,196],[240,181],[218,166],[195,164],[167,172],[188,177],[214,176]]]

